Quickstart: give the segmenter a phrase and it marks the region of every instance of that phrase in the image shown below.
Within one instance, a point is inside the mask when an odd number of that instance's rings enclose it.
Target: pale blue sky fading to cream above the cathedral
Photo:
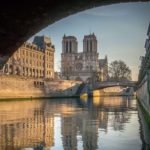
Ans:
[[[132,80],[137,80],[139,58],[145,55],[144,44],[149,22],[150,2],[119,3],[68,16],[36,35],[51,37],[55,45],[55,71],[59,71],[63,35],[75,36],[78,51],[81,52],[84,35],[94,32],[98,40],[99,58],[107,55],[109,64],[114,60],[123,60],[132,70]],[[31,42],[33,37],[28,41]]]

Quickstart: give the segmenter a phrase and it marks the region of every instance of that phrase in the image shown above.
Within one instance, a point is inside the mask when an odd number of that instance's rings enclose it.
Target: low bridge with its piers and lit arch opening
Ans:
[[[135,81],[124,82],[97,82],[93,85],[85,84],[80,92],[80,97],[87,96],[132,96],[136,89]]]

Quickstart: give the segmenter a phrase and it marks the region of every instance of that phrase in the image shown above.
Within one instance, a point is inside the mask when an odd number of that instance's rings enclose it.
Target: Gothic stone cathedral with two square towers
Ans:
[[[101,74],[101,76],[104,80],[108,76],[107,66],[106,58],[106,64],[103,68],[100,67],[97,39],[94,33],[84,36],[83,52],[78,52],[76,37],[63,36],[61,73],[64,79],[86,81],[102,68],[103,74]]]

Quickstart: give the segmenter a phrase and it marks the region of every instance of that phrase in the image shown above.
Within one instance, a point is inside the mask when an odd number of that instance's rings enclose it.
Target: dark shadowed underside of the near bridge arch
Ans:
[[[0,68],[23,42],[55,21],[97,6],[136,1],[3,0],[0,4]]]

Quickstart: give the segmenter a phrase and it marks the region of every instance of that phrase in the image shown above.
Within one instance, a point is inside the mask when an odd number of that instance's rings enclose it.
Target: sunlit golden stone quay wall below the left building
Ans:
[[[80,81],[0,75],[0,99],[74,96]]]

